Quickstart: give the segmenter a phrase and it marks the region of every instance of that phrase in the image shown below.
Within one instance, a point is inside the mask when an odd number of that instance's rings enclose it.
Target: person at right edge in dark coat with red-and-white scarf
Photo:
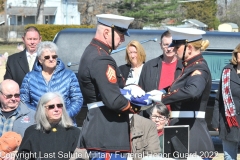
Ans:
[[[223,68],[215,98],[212,127],[222,139],[224,159],[237,159],[240,142],[240,44]]]

